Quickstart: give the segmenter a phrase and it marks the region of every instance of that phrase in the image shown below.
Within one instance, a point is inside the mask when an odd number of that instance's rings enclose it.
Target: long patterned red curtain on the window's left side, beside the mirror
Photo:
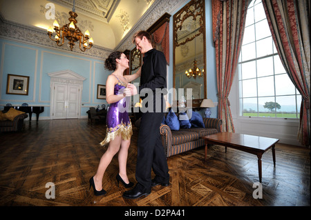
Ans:
[[[223,132],[234,132],[228,100],[241,51],[247,7],[251,0],[212,0],[218,117],[223,120]]]

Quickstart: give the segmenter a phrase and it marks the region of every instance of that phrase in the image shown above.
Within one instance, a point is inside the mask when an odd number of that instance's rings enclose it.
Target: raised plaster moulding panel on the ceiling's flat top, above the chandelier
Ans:
[[[50,0],[68,9],[73,8],[73,0]],[[88,17],[108,23],[117,8],[120,0],[76,0],[76,12],[81,12]]]

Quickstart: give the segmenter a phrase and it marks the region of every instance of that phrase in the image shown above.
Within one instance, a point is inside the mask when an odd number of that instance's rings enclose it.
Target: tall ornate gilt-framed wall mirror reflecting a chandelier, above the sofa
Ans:
[[[173,15],[173,88],[183,88],[194,107],[207,98],[205,70],[205,1],[192,0]]]

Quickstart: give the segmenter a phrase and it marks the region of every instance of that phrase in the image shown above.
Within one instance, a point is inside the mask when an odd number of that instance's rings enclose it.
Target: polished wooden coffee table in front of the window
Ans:
[[[258,157],[258,173],[259,181],[261,182],[261,156],[264,152],[272,148],[273,163],[275,166],[275,144],[279,139],[269,137],[259,137],[248,134],[238,134],[232,132],[219,132],[217,134],[211,134],[203,137],[205,140],[205,161],[207,157],[207,144],[218,144],[225,146],[225,152],[227,148],[234,148],[242,150],[250,154],[255,154]]]

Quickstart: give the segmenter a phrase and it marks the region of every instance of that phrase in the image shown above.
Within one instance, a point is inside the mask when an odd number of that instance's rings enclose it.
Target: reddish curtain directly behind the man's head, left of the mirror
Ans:
[[[165,22],[151,34],[153,48],[164,53],[169,65],[169,22]]]

